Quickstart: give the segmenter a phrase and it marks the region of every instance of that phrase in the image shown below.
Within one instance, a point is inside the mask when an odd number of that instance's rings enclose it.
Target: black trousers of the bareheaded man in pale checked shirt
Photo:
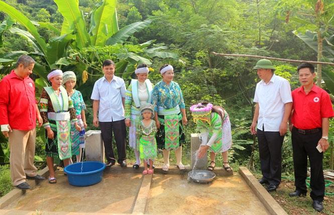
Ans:
[[[125,120],[114,122],[98,122],[101,129],[102,140],[104,144],[105,158],[108,162],[116,161],[113,150],[113,133],[115,136],[118,162],[121,163],[126,159],[126,134]]]

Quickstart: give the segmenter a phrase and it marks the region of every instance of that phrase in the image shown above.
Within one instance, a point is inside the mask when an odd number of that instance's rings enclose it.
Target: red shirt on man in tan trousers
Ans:
[[[35,83],[14,70],[0,81],[0,125],[28,131],[36,127]]]

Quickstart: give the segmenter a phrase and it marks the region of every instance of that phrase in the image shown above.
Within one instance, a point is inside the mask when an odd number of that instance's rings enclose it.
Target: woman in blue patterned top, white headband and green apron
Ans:
[[[182,144],[185,143],[183,126],[187,124],[187,118],[182,91],[179,84],[173,81],[174,71],[171,65],[162,66],[160,74],[162,80],[153,88],[152,102],[158,127],[157,144],[164,156],[162,170],[168,171],[170,150],[175,150],[176,165],[184,170],[181,159]]]

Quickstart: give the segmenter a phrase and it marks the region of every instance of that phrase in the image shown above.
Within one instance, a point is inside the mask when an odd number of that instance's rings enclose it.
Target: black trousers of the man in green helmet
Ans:
[[[284,136],[279,132],[257,130],[263,179],[278,186],[281,183],[282,145]]]

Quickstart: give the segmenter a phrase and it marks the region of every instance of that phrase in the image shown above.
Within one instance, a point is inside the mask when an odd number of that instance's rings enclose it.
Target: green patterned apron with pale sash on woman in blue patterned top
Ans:
[[[180,107],[177,105],[172,109],[163,109],[159,106],[159,115],[164,115],[165,119],[159,121],[165,127],[165,149],[172,150],[179,147],[179,114]]]

